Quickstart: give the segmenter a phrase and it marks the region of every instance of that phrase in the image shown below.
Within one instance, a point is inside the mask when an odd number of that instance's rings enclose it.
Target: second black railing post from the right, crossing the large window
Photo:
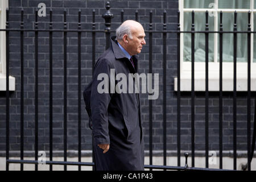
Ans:
[[[233,81],[233,156],[234,169],[237,169],[237,11],[234,12],[234,81]]]

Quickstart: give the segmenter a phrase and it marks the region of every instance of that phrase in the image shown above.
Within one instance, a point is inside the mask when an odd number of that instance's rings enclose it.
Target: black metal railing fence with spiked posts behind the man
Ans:
[[[92,12],[92,30],[82,30],[81,29],[81,11],[78,12],[78,21],[77,21],[77,30],[68,30],[67,28],[67,21],[66,21],[66,11],[64,11],[64,22],[63,22],[63,29],[53,29],[52,28],[52,10],[50,11],[50,22],[49,22],[49,29],[43,30],[38,28],[38,12],[35,12],[35,22],[33,29],[24,29],[23,24],[23,10],[21,11],[21,22],[20,28],[14,29],[9,28],[9,11],[6,11],[6,29],[1,31],[6,31],[6,170],[9,170],[10,163],[19,163],[20,170],[23,170],[23,164],[35,164],[35,170],[38,170],[38,32],[48,32],[49,33],[49,161],[46,161],[46,164],[49,164],[50,170],[52,170],[52,165],[54,164],[61,164],[64,165],[64,170],[67,170],[67,165],[75,165],[79,166],[79,170],[81,170],[81,166],[94,166],[93,162],[81,162],[81,111],[82,104],[81,104],[81,33],[82,32],[90,32],[92,33],[92,69],[93,65],[95,64],[96,59],[96,33],[97,32],[105,32],[106,35],[106,48],[110,46],[110,32],[114,32],[111,30],[111,19],[113,14],[110,12],[110,5],[109,3],[106,4],[106,13],[102,15],[102,18],[105,19],[105,30],[96,30],[96,22],[95,22],[95,11]],[[149,169],[175,169],[175,170],[216,170],[216,169],[209,169],[209,89],[208,89],[208,54],[209,54],[209,34],[217,33],[220,38],[220,91],[219,91],[219,159],[220,159],[220,166],[219,168],[222,169],[222,133],[223,133],[223,125],[222,125],[222,36],[223,34],[233,34],[234,35],[234,88],[233,88],[233,164],[234,169],[237,169],[237,125],[236,125],[236,106],[237,106],[237,87],[236,87],[236,78],[237,78],[237,34],[247,34],[247,168],[250,170],[250,163],[253,157],[254,151],[254,144],[255,144],[255,137],[253,138],[253,144],[251,147],[251,133],[250,133],[250,101],[251,101],[251,90],[250,90],[250,73],[251,73],[251,65],[250,65],[250,38],[251,34],[255,34],[254,31],[251,31],[250,27],[250,12],[248,13],[248,27],[247,31],[237,31],[237,24],[236,24],[236,15],[237,13],[234,12],[234,30],[233,31],[223,31],[222,28],[222,13],[220,13],[220,30],[219,31],[209,31],[208,25],[208,12],[205,13],[206,22],[205,22],[205,31],[195,31],[195,24],[194,24],[194,12],[192,11],[192,26],[191,31],[180,31],[180,14],[179,11],[177,12],[177,30],[176,31],[167,31],[167,23],[166,23],[166,11],[163,12],[163,30],[162,31],[153,31],[152,30],[152,11],[150,12],[150,22],[149,23],[149,30],[145,30],[146,34],[148,34],[149,39],[149,49],[148,49],[148,66],[149,66],[149,73],[152,73],[152,34],[160,33],[163,35],[163,166],[156,166],[152,165],[152,100],[149,100],[149,159],[150,164],[145,165],[145,168]],[[135,20],[138,20],[138,11],[135,12]],[[121,11],[121,22],[123,22],[123,11]],[[9,105],[10,105],[10,95],[9,95],[9,32],[11,31],[18,31],[20,32],[20,160],[9,159]],[[24,131],[23,131],[23,39],[24,39],[24,32],[34,32],[35,34],[35,160],[24,160],[23,154],[23,146],[24,146]],[[64,35],[63,44],[64,44],[64,161],[57,162],[52,160],[52,121],[53,121],[53,109],[52,109],[52,33],[53,32],[61,32]],[[77,55],[78,55],[78,162],[68,162],[67,161],[67,34],[68,32],[76,32],[77,33]],[[195,167],[195,34],[203,33],[205,34],[205,168],[196,168]],[[166,68],[167,68],[167,34],[175,34],[177,36],[177,166],[167,166],[167,97],[166,97]],[[181,109],[180,109],[180,101],[181,101],[181,92],[180,92],[180,35],[181,34],[191,34],[191,51],[192,51],[192,80],[191,80],[191,157],[192,157],[192,167],[188,167],[187,159],[188,153],[185,153],[185,166],[180,166],[181,160],[181,144],[180,144],[180,129],[181,129]],[[255,117],[254,117],[255,120]],[[255,121],[254,121],[255,123]],[[255,127],[255,126],[254,126]],[[254,134],[255,135],[255,134]]]

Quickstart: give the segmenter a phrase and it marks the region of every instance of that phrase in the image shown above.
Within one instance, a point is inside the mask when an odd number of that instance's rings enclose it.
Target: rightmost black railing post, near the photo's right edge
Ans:
[[[248,171],[251,170],[250,151],[251,151],[251,24],[250,11],[248,12],[248,34],[247,34],[247,164]],[[255,116],[254,116],[255,117]]]

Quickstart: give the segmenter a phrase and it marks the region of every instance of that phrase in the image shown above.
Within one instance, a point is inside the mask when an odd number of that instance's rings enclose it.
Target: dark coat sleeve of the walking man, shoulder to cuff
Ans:
[[[92,125],[93,125],[93,137],[94,143],[97,144],[110,144],[109,139],[109,123],[108,123],[108,106],[112,94],[110,92],[107,93],[99,93],[97,88],[98,84],[102,82],[102,78],[98,80],[98,75],[101,73],[105,73],[104,75],[108,75],[108,80],[105,84],[108,83],[108,91],[110,88],[110,63],[106,59],[99,59],[96,63],[96,67],[93,73],[93,81],[92,81],[92,92],[90,97],[90,105],[92,110]],[[102,79],[102,80],[101,80]]]

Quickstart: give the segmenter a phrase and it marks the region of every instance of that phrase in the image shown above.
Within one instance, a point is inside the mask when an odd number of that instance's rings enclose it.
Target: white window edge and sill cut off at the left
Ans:
[[[0,1],[0,28],[6,27],[7,0]],[[6,32],[0,31],[0,91],[6,90]],[[15,78],[9,76],[9,90],[15,90]]]

